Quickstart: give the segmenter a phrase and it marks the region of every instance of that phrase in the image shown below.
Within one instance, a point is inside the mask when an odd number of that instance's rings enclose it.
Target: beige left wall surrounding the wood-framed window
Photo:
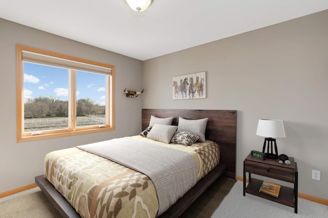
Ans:
[[[115,66],[115,130],[16,143],[16,43]],[[123,90],[141,89],[141,66],[140,60],[0,19],[0,193],[34,183],[49,151],[140,133],[141,98],[126,98]]]

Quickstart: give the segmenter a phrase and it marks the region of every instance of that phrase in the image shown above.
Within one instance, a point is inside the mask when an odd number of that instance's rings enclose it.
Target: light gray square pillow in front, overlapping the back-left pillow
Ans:
[[[177,126],[155,124],[150,130],[147,138],[169,144]]]

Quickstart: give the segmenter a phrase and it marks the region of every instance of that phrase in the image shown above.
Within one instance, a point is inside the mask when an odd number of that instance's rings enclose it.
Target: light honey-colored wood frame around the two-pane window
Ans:
[[[37,53],[40,55],[47,55],[56,58],[66,59],[69,61],[76,61],[80,63],[91,64],[93,66],[99,66],[103,68],[110,68],[111,75],[106,80],[107,93],[106,93],[106,125],[105,126],[87,126],[76,127],[76,72],[71,70],[72,76],[69,78],[69,123],[68,129],[55,129],[46,130],[40,135],[33,135],[30,133],[24,133],[24,69],[23,69],[23,51]],[[58,137],[74,136],[89,133],[105,132],[115,129],[114,122],[114,87],[115,87],[115,67],[109,64],[99,63],[86,59],[76,58],[68,55],[58,54],[45,50],[35,49],[23,45],[16,45],[16,140],[17,142],[28,142],[42,139],[52,139]]]

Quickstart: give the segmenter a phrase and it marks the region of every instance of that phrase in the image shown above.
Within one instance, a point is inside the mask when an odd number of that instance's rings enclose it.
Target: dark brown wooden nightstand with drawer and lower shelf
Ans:
[[[245,193],[256,195],[263,199],[268,199],[286,206],[295,208],[297,213],[297,189],[298,189],[298,171],[297,163],[294,158],[289,157],[290,165],[280,164],[278,159],[259,160],[252,158],[251,154],[244,160],[243,170],[243,195]],[[249,184],[246,187],[246,172],[249,173]],[[281,186],[279,197],[275,198],[268,194],[259,192],[263,180],[251,178],[251,173],[256,175],[277,179],[294,184],[294,188]],[[268,180],[270,182],[270,180]]]

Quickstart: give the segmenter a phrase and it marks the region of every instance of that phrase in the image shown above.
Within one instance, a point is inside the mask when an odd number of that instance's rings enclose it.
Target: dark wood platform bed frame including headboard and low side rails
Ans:
[[[178,118],[209,118],[205,138],[220,146],[220,163],[197,182],[182,198],[159,217],[178,217],[185,211],[218,177],[221,175],[236,178],[236,131],[237,111],[228,110],[178,110],[178,109],[142,109],[142,129],[148,127],[151,115],[159,118],[174,117],[172,125],[178,124]],[[53,206],[63,217],[80,217],[44,175],[35,177],[36,184],[44,192]]]

